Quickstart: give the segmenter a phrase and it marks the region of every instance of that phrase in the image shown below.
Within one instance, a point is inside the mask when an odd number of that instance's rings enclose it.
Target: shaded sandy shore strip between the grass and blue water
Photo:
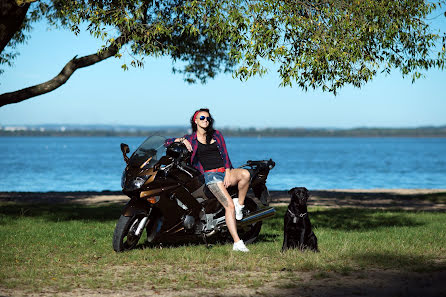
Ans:
[[[446,204],[430,198],[446,196],[446,189],[372,189],[311,190],[309,206],[398,208],[405,210],[445,211]],[[286,205],[286,191],[271,191],[272,204]],[[125,203],[129,198],[121,192],[0,192],[0,202],[18,203]],[[444,199],[443,199],[444,201]]]

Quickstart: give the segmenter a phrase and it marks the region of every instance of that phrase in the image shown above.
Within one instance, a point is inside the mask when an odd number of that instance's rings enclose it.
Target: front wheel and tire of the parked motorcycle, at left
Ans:
[[[116,252],[123,252],[133,249],[141,238],[135,235],[136,228],[144,216],[126,217],[121,215],[116,223],[115,232],[113,233],[113,249]]]

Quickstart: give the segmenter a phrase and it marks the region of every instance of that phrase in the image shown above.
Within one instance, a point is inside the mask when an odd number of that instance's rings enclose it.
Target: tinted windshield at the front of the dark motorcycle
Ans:
[[[132,167],[153,167],[166,153],[164,147],[165,138],[162,136],[150,136],[136,149],[129,159]]]

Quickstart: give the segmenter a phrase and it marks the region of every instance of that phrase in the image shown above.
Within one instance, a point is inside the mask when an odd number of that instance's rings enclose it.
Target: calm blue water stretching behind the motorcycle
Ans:
[[[0,137],[0,191],[120,189],[121,142],[140,137]],[[446,188],[445,138],[227,138],[233,165],[276,162],[270,190]]]

